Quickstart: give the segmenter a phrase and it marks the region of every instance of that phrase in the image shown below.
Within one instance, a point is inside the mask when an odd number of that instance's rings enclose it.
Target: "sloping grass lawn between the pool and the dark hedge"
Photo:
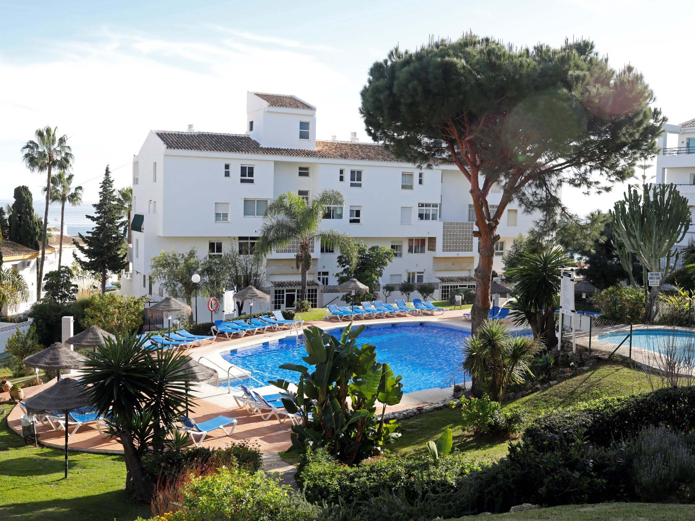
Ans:
[[[587,372],[558,383],[546,390],[505,402],[503,407],[521,406],[528,419],[555,408],[568,408],[580,402],[603,396],[628,395],[633,392],[651,390],[645,385],[638,370],[616,362],[595,365]],[[461,428],[461,412],[457,409],[442,409],[434,413],[418,415],[400,422],[402,436],[391,445],[395,454],[426,454],[425,444],[436,440],[450,427],[454,433],[454,448],[466,452],[472,458],[497,461],[507,455],[508,440],[490,436],[473,436]]]

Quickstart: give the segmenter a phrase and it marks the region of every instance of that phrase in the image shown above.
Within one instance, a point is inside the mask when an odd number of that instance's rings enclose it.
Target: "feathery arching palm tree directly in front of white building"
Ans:
[[[297,270],[302,273],[300,299],[306,299],[306,272],[311,269],[311,254],[318,241],[327,247],[337,247],[350,259],[354,270],[357,264],[357,245],[347,233],[321,230],[321,220],[328,206],[343,206],[345,199],[338,190],[323,190],[311,201],[294,192],[286,192],[272,201],[265,210],[261,234],[256,242],[256,254],[267,256],[273,249],[296,244]]]

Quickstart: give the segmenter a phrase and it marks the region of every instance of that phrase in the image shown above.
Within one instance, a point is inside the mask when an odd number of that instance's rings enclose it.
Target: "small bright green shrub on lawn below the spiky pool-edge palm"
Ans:
[[[459,406],[464,429],[478,434],[516,434],[521,432],[526,420],[526,413],[521,408],[509,407],[501,411],[500,404],[491,402],[487,396],[461,397]]]

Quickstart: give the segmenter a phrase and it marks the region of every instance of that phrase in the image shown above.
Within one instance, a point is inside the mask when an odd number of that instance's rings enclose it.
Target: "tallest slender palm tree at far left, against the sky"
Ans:
[[[46,209],[44,210],[44,229],[41,238],[41,263],[39,279],[37,283],[36,298],[41,298],[41,286],[43,284],[43,267],[46,260],[46,227],[48,226],[48,206],[51,195],[51,172],[53,169],[65,171],[70,169],[74,157],[72,149],[67,144],[67,135],[58,137],[57,126],[51,129],[36,129],[34,139],[28,140],[22,152],[24,152],[24,164],[31,172],[47,172],[46,180]]]

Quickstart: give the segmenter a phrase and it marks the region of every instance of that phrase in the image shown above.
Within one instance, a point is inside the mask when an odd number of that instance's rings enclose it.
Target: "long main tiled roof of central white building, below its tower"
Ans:
[[[203,152],[228,152],[233,154],[261,154],[265,156],[289,156],[318,159],[351,159],[361,161],[404,162],[391,154],[381,144],[351,141],[316,141],[316,150],[261,147],[245,134],[220,134],[213,132],[155,131],[167,149],[199,150]]]

